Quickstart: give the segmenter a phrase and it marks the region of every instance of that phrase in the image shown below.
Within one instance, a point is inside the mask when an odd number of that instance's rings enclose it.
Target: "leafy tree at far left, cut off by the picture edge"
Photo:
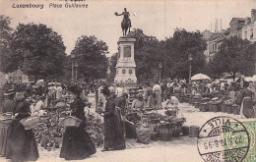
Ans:
[[[12,28],[10,18],[0,15],[0,72],[7,73],[10,70],[10,41],[12,39]]]

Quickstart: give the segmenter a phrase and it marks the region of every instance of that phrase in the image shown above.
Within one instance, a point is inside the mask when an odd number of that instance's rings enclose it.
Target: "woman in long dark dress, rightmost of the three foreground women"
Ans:
[[[102,93],[106,97],[104,113],[104,148],[102,151],[109,149],[125,149],[124,134],[121,122],[115,113],[115,101],[111,96],[110,90],[104,86]]]

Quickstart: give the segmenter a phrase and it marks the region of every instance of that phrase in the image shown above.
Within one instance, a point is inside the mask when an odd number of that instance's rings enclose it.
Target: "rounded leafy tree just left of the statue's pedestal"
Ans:
[[[82,35],[78,38],[72,54],[75,54],[78,62],[78,73],[82,74],[86,81],[90,79],[103,79],[106,77],[108,60],[105,56],[107,45],[96,36]]]

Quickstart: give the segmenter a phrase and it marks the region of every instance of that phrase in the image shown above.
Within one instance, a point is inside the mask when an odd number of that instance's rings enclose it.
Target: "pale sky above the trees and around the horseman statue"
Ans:
[[[43,4],[43,9],[13,8],[15,4]],[[62,4],[62,8],[50,8],[49,4]],[[66,0],[0,0],[0,15],[11,18],[11,27],[21,24],[44,24],[63,37],[66,53],[74,49],[82,35],[96,35],[108,45],[108,56],[117,52],[117,41],[122,36],[122,17],[116,17],[123,8],[130,12],[132,28],[142,28],[147,35],[159,40],[172,36],[174,28],[188,31],[215,30],[229,26],[232,18],[251,16],[256,0],[84,0],[88,8],[65,8]]]

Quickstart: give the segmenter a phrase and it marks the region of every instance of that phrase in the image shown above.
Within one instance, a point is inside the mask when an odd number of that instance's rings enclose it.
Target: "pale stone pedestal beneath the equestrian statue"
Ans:
[[[119,38],[119,59],[116,64],[115,82],[137,82],[134,61],[135,38],[122,36]]]

